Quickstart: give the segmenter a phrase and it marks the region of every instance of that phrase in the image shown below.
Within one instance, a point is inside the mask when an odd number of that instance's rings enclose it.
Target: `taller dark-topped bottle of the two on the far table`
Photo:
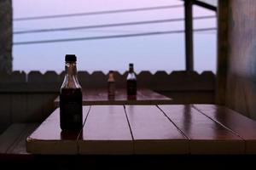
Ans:
[[[129,64],[129,72],[126,79],[126,91],[128,99],[137,98],[137,78],[134,72],[133,64]]]

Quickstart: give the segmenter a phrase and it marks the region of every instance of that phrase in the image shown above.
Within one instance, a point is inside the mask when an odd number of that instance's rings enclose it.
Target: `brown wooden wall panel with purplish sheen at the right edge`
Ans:
[[[225,3],[226,1],[219,1]],[[256,119],[256,1],[227,1],[228,67],[225,105]],[[224,49],[221,49],[224,50]]]

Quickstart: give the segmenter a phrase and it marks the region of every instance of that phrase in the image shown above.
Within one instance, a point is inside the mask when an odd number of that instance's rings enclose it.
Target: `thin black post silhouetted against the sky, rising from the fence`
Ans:
[[[184,1],[185,6],[185,48],[186,48],[186,71],[194,71],[193,52],[193,11],[191,0]]]

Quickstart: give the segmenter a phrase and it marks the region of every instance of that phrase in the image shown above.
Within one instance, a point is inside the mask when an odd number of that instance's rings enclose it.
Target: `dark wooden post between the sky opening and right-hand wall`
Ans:
[[[218,60],[216,104],[225,105],[229,53],[229,0],[218,1]]]

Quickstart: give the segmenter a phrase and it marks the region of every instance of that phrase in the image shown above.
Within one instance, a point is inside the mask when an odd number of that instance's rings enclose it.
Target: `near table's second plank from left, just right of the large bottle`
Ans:
[[[132,154],[132,137],[123,105],[93,105],[79,139],[80,154]]]

